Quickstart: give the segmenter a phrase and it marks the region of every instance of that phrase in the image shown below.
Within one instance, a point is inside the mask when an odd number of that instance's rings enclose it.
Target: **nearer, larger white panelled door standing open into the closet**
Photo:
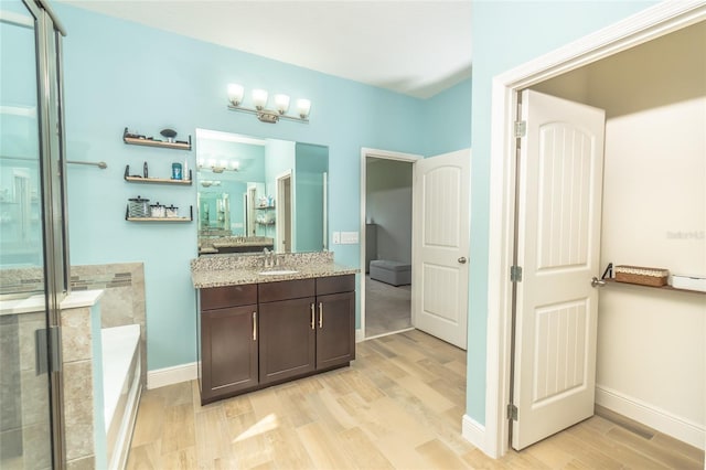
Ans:
[[[517,450],[593,415],[605,111],[525,90],[522,120]]]

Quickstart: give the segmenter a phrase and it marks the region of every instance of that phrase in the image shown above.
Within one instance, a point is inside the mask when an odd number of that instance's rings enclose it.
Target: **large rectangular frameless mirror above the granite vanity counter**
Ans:
[[[196,129],[199,254],[320,252],[329,148]]]

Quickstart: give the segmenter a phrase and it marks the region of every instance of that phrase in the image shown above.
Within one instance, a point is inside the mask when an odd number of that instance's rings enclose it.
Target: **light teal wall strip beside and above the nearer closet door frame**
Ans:
[[[492,78],[655,2],[473,2],[471,245],[467,414],[485,423]]]

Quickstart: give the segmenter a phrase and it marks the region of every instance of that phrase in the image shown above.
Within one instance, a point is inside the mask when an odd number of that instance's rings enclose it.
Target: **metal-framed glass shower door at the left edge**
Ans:
[[[53,189],[47,179],[61,153],[54,150],[61,136],[50,131],[49,119],[60,118],[55,35],[51,18],[34,1],[0,2],[2,469],[61,468],[63,463],[57,430],[61,375],[57,356],[50,354],[58,346],[58,338],[50,332],[56,331],[52,327],[64,293],[56,288],[52,248],[56,245],[55,204],[47,203],[56,192],[62,200],[61,184]],[[63,221],[61,214],[58,220]],[[62,234],[58,237],[61,245]],[[63,278],[65,269],[58,269]]]

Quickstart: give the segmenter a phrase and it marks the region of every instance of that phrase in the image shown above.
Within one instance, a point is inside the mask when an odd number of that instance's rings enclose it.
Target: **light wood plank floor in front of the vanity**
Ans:
[[[147,391],[128,469],[703,469],[704,452],[595,416],[501,460],[461,437],[466,352],[419,331],[357,344],[351,367],[199,405]],[[634,426],[633,426],[634,425]]]

